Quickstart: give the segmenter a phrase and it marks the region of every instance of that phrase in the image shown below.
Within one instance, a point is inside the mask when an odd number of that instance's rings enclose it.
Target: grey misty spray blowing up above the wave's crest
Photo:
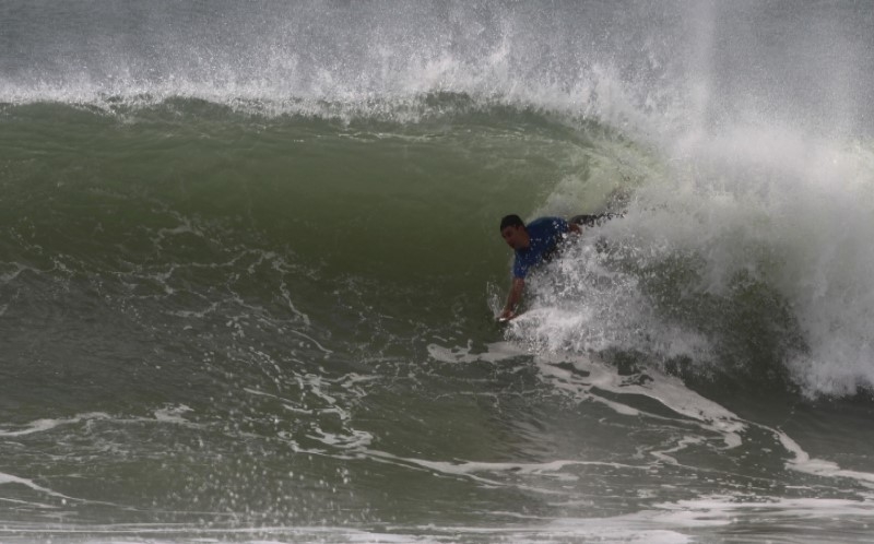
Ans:
[[[871,21],[851,7],[97,1],[9,2],[0,14],[3,102],[366,107],[450,92],[635,131],[782,120],[870,133]]]

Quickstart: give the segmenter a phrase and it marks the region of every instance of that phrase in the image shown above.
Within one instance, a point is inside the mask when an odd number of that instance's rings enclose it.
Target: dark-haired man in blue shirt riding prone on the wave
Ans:
[[[501,218],[500,236],[513,249],[516,258],[512,264],[510,293],[498,320],[507,321],[516,317],[516,308],[522,299],[529,270],[550,261],[568,233],[579,234],[581,225],[594,226],[602,220],[610,220],[613,216],[611,213],[575,215],[569,221],[560,217],[539,217],[528,225],[515,214]]]

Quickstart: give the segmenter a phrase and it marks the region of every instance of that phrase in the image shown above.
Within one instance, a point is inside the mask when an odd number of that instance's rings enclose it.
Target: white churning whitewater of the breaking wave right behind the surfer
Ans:
[[[870,388],[871,151],[747,127],[713,141],[684,142],[674,152],[675,167],[650,173],[623,221],[587,233],[554,269],[543,303],[534,306],[538,324],[520,327],[524,334],[554,347],[625,343],[666,357],[706,358],[720,341],[706,329],[733,327],[717,312],[740,304],[739,291],[758,291],[768,298],[763,305],[773,304],[764,310],[773,312],[769,319],[781,320],[776,327],[792,336],[794,345],[781,355],[806,393]],[[615,246],[623,267],[615,265],[615,255],[595,251],[601,239]],[[652,293],[641,272],[663,267],[683,284]],[[665,315],[660,297],[666,292],[672,304],[711,301],[711,311],[699,316],[705,322]],[[637,338],[653,329],[661,333]]]

